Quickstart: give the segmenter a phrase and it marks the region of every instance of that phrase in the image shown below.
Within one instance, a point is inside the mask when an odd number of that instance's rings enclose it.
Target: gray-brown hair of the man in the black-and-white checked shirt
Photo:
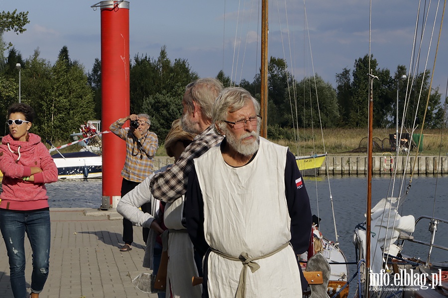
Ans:
[[[207,120],[212,120],[213,104],[223,88],[223,83],[216,78],[198,78],[185,88],[183,101],[190,111],[193,110],[193,101],[195,101],[201,108],[202,116]]]

